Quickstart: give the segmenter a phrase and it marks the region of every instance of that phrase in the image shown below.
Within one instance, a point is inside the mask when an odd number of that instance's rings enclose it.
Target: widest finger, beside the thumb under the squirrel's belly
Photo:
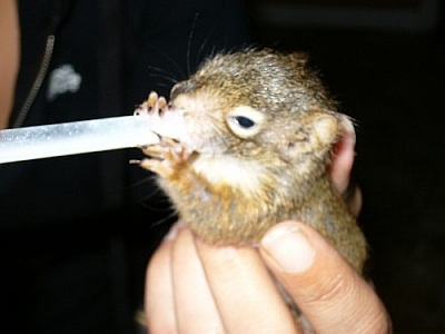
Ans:
[[[299,333],[256,249],[197,248],[227,333]]]

